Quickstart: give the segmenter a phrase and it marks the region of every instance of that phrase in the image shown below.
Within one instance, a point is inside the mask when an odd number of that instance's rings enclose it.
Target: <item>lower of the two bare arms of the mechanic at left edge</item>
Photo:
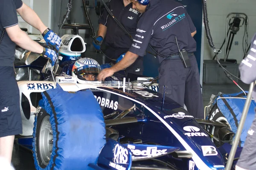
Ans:
[[[21,48],[38,54],[43,52],[44,48],[37,42],[33,41],[24,31],[20,29],[18,25],[7,27],[6,32],[10,39]]]

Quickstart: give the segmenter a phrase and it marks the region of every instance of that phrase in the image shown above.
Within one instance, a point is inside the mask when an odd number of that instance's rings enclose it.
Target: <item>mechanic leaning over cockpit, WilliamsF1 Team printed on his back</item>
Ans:
[[[159,92],[181,106],[186,105],[189,113],[199,119],[204,118],[198,64],[193,52],[196,42],[193,36],[196,28],[184,6],[174,0],[131,0],[133,8],[143,13],[137,24],[137,35],[125,57],[111,68],[102,70],[98,79],[104,80],[116,71],[131,65],[138,56],[143,56],[148,43],[157,51],[160,67]],[[142,38],[143,37],[143,38]],[[177,37],[177,42],[176,42]],[[191,66],[185,68],[179,56],[186,50]]]

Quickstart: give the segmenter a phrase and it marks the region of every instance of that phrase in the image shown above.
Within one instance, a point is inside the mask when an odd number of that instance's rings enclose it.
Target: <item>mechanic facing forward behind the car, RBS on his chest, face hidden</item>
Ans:
[[[131,1],[109,0],[107,4],[116,19],[119,20],[132,37],[136,37],[137,20],[140,14],[137,10],[132,8]],[[99,30],[97,34],[98,37],[96,41],[93,42],[93,45],[99,50],[103,39],[105,39],[106,63],[115,64],[115,61],[122,59],[123,54],[131,47],[131,38],[122,30],[113,17],[108,14],[106,8],[99,18]],[[143,75],[143,57],[138,57],[136,62],[124,69],[126,75],[128,75],[128,73]]]

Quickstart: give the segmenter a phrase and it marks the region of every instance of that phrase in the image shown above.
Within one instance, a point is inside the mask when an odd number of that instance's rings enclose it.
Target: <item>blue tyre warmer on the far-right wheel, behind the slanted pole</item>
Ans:
[[[246,93],[248,92],[246,91]],[[219,98],[222,98],[222,99],[219,99]],[[244,98],[244,99],[239,99],[239,98]],[[227,122],[229,123],[232,131],[235,134],[236,134],[238,125],[240,123],[246,98],[247,96],[245,96],[243,92],[236,93],[236,94],[220,94],[215,98],[215,101],[212,104],[212,105],[215,105],[217,103],[219,111],[221,111],[221,113],[225,116],[225,118],[227,119]],[[256,107],[256,103],[254,100],[252,100],[250,103],[250,108],[246,117],[244,128],[241,133],[240,142],[239,142],[240,147],[244,146],[247,132],[251,124],[253,123],[253,120],[255,117],[255,111],[254,111],[255,107]]]

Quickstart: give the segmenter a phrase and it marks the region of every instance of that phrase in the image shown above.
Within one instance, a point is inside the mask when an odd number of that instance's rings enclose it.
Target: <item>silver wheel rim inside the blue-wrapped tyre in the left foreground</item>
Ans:
[[[52,155],[53,134],[50,124],[50,116],[42,120],[39,133],[39,154],[43,164],[49,164]]]

